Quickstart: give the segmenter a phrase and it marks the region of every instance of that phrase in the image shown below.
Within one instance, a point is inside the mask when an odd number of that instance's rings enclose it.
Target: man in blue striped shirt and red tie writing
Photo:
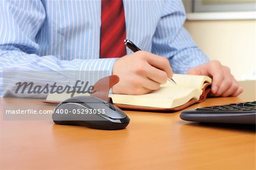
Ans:
[[[193,42],[181,1],[6,0],[0,11],[2,71],[108,71],[120,78],[119,94],[149,93],[188,73],[212,77],[213,96],[243,91]],[[126,38],[142,51],[126,49]]]

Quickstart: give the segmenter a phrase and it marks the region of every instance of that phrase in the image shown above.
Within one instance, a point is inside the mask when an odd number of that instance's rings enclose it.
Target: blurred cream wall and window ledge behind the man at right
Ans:
[[[237,80],[256,80],[256,1],[183,0],[185,28],[212,60]]]

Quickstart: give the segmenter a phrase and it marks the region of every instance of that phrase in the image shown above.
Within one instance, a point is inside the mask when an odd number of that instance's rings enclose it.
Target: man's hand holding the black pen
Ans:
[[[137,51],[117,59],[113,74],[120,81],[113,86],[116,94],[146,94],[157,90],[172,77],[168,59],[146,51]]]

